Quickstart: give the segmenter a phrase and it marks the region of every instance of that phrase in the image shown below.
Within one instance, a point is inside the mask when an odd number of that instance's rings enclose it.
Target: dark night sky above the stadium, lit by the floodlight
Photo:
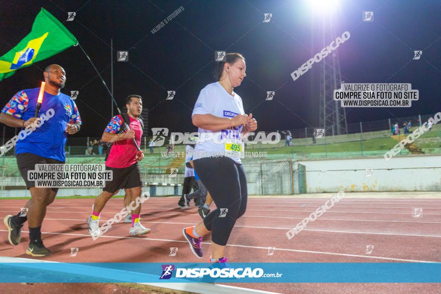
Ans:
[[[181,6],[179,15],[151,33]],[[30,32],[42,7],[79,40],[109,88],[113,38],[115,98],[122,107],[128,94],[141,95],[149,109],[149,128],[197,131],[191,111],[199,91],[213,82],[215,50],[245,56],[248,77],[235,91],[245,112],[252,110],[259,130],[319,124],[320,65],[296,81],[290,76],[323,48],[317,38],[318,16],[306,1],[0,0],[0,55]],[[374,22],[362,23],[362,11],[374,11]],[[66,21],[68,12],[76,12],[74,21]],[[269,23],[263,23],[264,13],[273,14]],[[411,108],[352,108],[348,123],[441,110],[441,1],[341,1],[337,13],[335,37],[351,34],[338,48],[345,82],[411,83],[419,90],[419,101]],[[119,50],[129,51],[129,62],[115,61]],[[412,60],[413,50],[422,50],[420,60]],[[62,91],[80,94],[76,103],[83,127],[74,137],[101,136],[111,118],[110,97],[78,47],[0,82],[2,107],[19,90],[39,87],[43,69],[52,63],[66,70]],[[167,90],[176,91],[173,100],[165,100]],[[266,91],[276,91],[274,100],[264,101]],[[12,135],[14,129],[8,128],[7,137]]]

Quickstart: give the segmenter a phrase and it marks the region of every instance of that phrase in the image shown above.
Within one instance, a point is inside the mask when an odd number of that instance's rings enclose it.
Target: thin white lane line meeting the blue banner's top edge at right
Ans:
[[[0,231],[7,232],[7,230],[0,230]],[[28,231],[22,231],[22,232],[23,233],[29,233]],[[90,235],[86,235],[86,234],[72,234],[72,233],[42,232],[42,234],[90,237]],[[155,239],[155,238],[150,238],[150,237],[149,238],[139,238],[139,237],[136,238],[136,237],[119,237],[119,236],[103,235],[103,236],[100,236],[100,238],[135,239],[135,240],[142,240],[142,241],[166,241],[166,242],[187,243],[187,241],[182,241],[182,240]],[[203,243],[203,244],[211,244],[211,243],[208,243],[208,242],[201,242],[201,243]],[[230,247],[242,247],[242,248],[254,248],[254,249],[264,249],[264,250],[268,251],[268,247],[262,247],[262,246],[250,246],[250,245],[239,245],[239,244],[227,244],[227,246],[230,246]],[[361,257],[361,258],[382,259],[382,260],[406,261],[406,262],[427,262],[427,263],[437,263],[437,262],[439,262],[439,261],[429,261],[429,260],[402,259],[402,258],[383,257],[383,256],[357,255],[357,254],[336,253],[336,252],[327,252],[327,251],[300,250],[300,249],[276,248],[276,250],[289,251],[289,252],[300,252],[300,253],[313,253],[313,254]]]

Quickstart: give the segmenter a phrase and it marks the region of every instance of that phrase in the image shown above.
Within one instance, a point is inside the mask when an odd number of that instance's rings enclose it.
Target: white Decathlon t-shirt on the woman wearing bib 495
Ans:
[[[242,98],[234,93],[234,97],[219,84],[219,82],[211,83],[205,86],[194,104],[193,113],[195,114],[211,114],[217,117],[233,118],[238,114],[245,114]],[[242,144],[241,132],[243,125],[232,127],[227,130],[210,131],[198,129],[199,141],[194,148],[193,159],[199,159],[210,156],[227,156],[234,161],[241,163],[241,158],[237,152],[235,155],[226,152],[226,141]],[[243,151],[242,144],[242,150]]]

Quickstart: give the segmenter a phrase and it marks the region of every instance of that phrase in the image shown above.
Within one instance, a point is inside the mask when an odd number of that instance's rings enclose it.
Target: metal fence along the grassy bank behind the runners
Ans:
[[[290,129],[290,130],[276,130],[280,134],[281,140],[277,144],[265,144],[262,142],[256,142],[256,137],[251,136],[249,139],[251,142],[246,144],[246,150],[249,151],[269,151],[269,153],[290,154],[290,156],[302,157],[302,158],[332,158],[341,156],[381,156],[385,151],[392,148],[396,142],[394,140],[387,141],[392,135],[391,128],[395,123],[400,127],[398,139],[404,138],[405,132],[403,130],[403,124],[411,122],[409,131],[413,131],[419,127],[422,123],[427,121],[429,117],[433,115],[417,115],[411,117],[391,118],[386,120],[360,122],[348,124],[348,134],[337,135],[335,128],[329,127],[321,138],[313,138],[314,130],[316,128],[303,128],[303,129]],[[441,138],[441,124],[435,125],[433,132],[439,132],[438,136],[433,136],[430,140],[418,139],[415,144],[423,143],[422,149],[426,154],[438,154],[441,153],[441,142],[436,139]],[[287,142],[286,134],[288,131],[291,133],[292,140]],[[5,133],[5,132],[4,132]],[[265,132],[269,134],[272,132]],[[148,141],[151,135],[145,136],[141,140],[141,148],[145,154],[149,154]],[[2,145],[5,144],[10,138],[2,138]],[[382,140],[383,139],[383,140]],[[384,140],[386,139],[386,140]],[[107,146],[106,144],[95,144],[100,138],[84,137],[84,138],[69,138],[65,151],[66,156],[79,156],[79,155],[101,155],[105,156]],[[168,144],[170,138],[166,138],[162,146],[153,147],[153,156],[164,157],[164,153],[168,152]],[[346,144],[344,144],[346,143]],[[279,150],[278,148],[285,148]],[[184,144],[173,144],[174,152],[184,152]],[[402,155],[406,154],[406,150]],[[14,155],[14,149],[6,153],[7,156]],[[161,159],[159,158],[160,162]],[[161,164],[159,164],[160,166]]]

